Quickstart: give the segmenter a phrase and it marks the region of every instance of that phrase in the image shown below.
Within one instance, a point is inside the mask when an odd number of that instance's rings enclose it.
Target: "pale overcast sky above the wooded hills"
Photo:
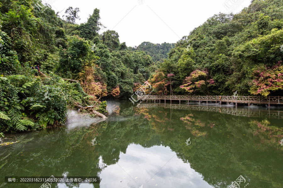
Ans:
[[[138,46],[144,41],[175,43],[209,17],[221,13],[238,13],[250,0],[44,0],[55,12],[64,15],[68,7],[80,8],[80,24],[87,21],[95,8],[100,10],[103,31],[115,30],[120,43]],[[225,6],[227,8],[225,8]],[[228,10],[229,9],[229,10]],[[62,18],[62,14],[59,14]]]

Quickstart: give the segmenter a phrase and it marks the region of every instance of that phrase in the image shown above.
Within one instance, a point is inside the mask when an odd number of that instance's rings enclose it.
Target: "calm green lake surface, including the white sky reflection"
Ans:
[[[73,112],[66,127],[6,135],[18,142],[0,146],[0,187],[39,188],[5,184],[4,176],[51,175],[102,179],[52,185],[59,188],[227,188],[240,175],[240,187],[283,187],[280,109],[108,105],[106,121]]]

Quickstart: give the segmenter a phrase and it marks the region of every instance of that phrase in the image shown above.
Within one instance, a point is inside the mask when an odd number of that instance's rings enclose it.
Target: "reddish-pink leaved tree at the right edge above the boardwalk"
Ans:
[[[261,66],[254,70],[255,79],[250,83],[249,92],[267,97],[271,91],[283,89],[283,65],[279,62],[273,67]]]

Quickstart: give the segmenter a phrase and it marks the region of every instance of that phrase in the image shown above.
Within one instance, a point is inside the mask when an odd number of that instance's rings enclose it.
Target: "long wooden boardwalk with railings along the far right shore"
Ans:
[[[184,96],[184,95],[172,95],[172,96],[165,96],[165,95],[145,95],[145,96],[138,96],[139,100],[154,100],[154,102],[157,100],[160,103],[160,100],[164,100],[166,103],[166,100],[170,100],[170,102],[173,101],[198,101],[203,102],[208,101],[211,102],[227,102],[229,103],[236,103],[236,106],[238,103],[247,103],[248,106],[250,104],[268,104],[270,107],[270,104],[283,104],[283,97],[254,97],[254,96]]]

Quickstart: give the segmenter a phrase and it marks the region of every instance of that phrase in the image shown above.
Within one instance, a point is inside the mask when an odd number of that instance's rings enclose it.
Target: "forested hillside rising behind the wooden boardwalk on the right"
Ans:
[[[282,13],[283,1],[253,0],[241,13],[209,18],[150,77],[155,93],[172,85],[173,94],[282,96]]]

